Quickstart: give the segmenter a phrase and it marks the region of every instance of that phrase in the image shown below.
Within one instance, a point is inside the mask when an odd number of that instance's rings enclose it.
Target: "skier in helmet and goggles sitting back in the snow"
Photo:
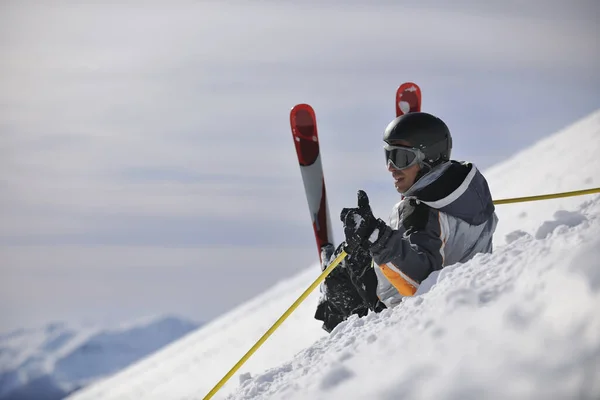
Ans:
[[[344,208],[345,241],[321,248],[322,268],[348,253],[321,285],[315,318],[331,332],[350,315],[399,304],[433,271],[492,252],[498,218],[487,181],[467,162],[450,159],[452,136],[438,117],[412,112],[383,135],[387,169],[402,195],[389,225],[376,218],[367,194]]]

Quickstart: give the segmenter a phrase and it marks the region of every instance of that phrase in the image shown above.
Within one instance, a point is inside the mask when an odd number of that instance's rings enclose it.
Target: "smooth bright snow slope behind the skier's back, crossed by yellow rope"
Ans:
[[[554,135],[513,155],[484,171],[494,199],[533,196],[600,187],[600,109]],[[540,227],[543,221],[568,219],[567,211],[577,210],[590,195],[496,207],[500,219],[494,243],[507,244],[513,232],[520,230],[543,236],[554,223]],[[560,211],[564,210],[564,211]]]

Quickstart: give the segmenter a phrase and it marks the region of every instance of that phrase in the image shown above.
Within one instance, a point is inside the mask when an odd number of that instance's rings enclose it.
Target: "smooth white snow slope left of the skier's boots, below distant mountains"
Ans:
[[[187,337],[172,343],[114,379],[76,393],[73,399],[186,399],[205,395],[318,276],[318,266],[275,285]],[[289,360],[326,333],[313,319],[318,290],[244,365],[260,372]],[[237,385],[232,378],[226,389]],[[194,398],[194,397],[192,397]],[[219,397],[215,397],[219,398]]]

